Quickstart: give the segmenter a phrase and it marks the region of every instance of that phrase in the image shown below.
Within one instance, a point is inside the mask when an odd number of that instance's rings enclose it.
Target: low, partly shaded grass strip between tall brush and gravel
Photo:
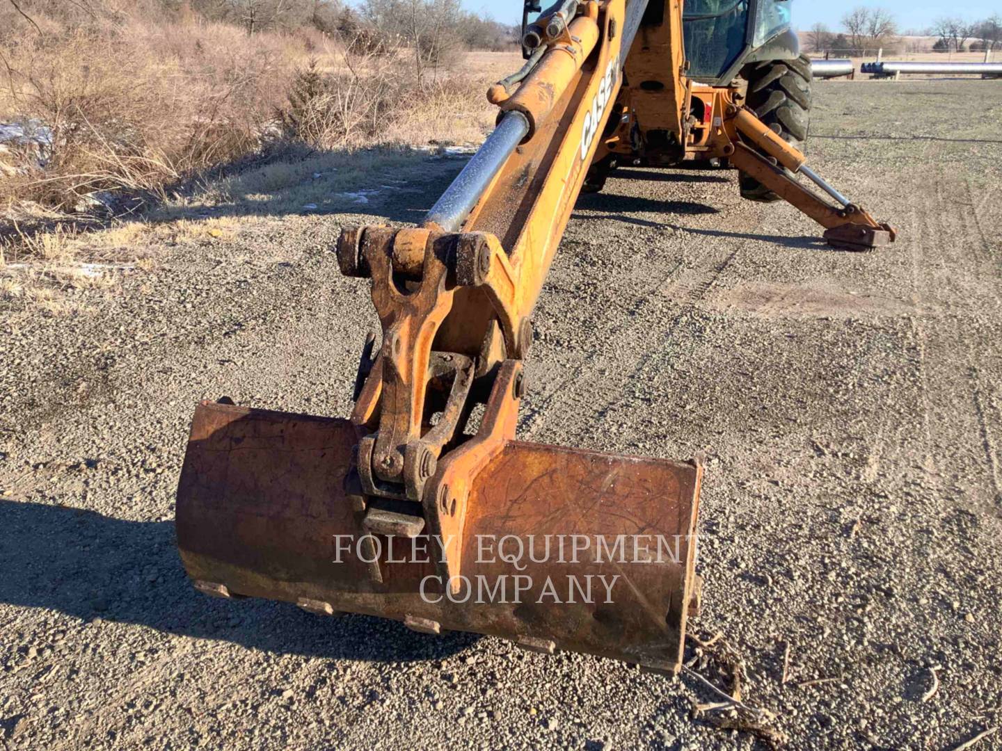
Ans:
[[[427,159],[404,148],[292,150],[170,197],[137,219],[94,231],[57,224],[48,232],[17,234],[0,243],[0,310],[76,314],[83,309],[76,292],[151,270],[164,246],[230,243],[285,215],[352,210],[374,193],[404,189]]]

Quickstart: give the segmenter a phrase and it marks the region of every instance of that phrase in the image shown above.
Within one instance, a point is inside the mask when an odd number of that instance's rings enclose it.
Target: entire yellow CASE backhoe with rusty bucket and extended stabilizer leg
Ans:
[[[382,324],[351,416],[196,409],[176,506],[194,586],[677,671],[702,464],[518,441],[523,362],[574,203],[618,166],[736,168],[838,247],[894,240],[808,166],[790,5],[525,3],[496,129],[424,221],[341,233]]]

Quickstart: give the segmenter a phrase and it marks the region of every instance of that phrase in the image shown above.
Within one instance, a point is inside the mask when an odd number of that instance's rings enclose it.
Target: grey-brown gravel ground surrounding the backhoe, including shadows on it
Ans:
[[[793,748],[952,748],[1002,723],[1002,86],[818,100],[814,165],[899,242],[833,252],[731,173],[623,171],[568,227],[519,435],[705,452],[693,630],[722,637],[691,643],[695,668],[725,686],[743,665]],[[419,218],[455,171],[429,163],[365,215],[153,248],[73,314],[5,313],[0,746],[768,745],[694,718],[714,697],[691,676],[187,583],[172,495],[192,406],[347,414],[375,317],[338,228]]]

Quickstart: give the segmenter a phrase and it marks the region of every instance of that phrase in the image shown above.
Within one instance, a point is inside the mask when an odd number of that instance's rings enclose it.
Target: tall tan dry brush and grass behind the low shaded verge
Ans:
[[[196,16],[130,15],[127,4],[88,24],[36,18],[42,33],[0,30],[0,121],[34,120],[51,130],[49,145],[0,154],[8,215],[31,204],[84,210],[81,199],[98,191],[104,203],[107,194],[161,199],[165,186],[283,135],[358,148],[475,141],[492,123],[483,92],[496,76],[480,65],[419,82],[406,50],[349,53],[305,31],[248,37]],[[312,64],[324,79],[324,95],[311,105],[313,130],[283,132],[280,115]]]

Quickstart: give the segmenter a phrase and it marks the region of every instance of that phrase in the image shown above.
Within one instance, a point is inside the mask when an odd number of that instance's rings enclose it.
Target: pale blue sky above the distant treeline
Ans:
[[[547,3],[543,3],[546,5]],[[522,17],[522,0],[463,0],[463,5],[469,10],[484,11],[498,21],[517,23]],[[939,0],[939,2],[916,2],[916,0],[877,0],[870,2],[861,0],[843,0],[842,2],[824,2],[823,0],[794,0],[794,23],[802,30],[811,28],[821,21],[833,30],[841,26],[842,16],[847,10],[857,5],[887,8],[895,14],[901,29],[925,29],[941,16],[959,15],[967,20],[976,21],[987,18],[993,13],[1002,15],[1002,0],[973,0],[972,2],[956,3]]]

